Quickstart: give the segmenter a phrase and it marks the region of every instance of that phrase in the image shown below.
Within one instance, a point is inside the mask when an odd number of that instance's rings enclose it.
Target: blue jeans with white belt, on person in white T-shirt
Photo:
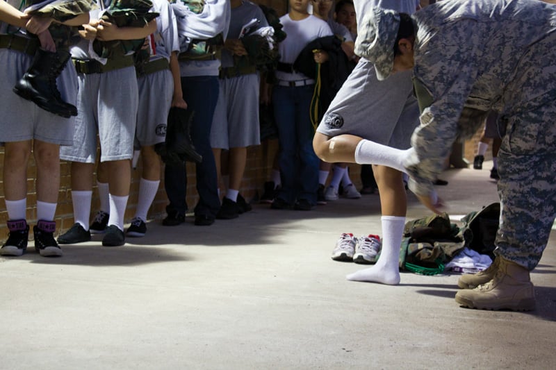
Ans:
[[[278,198],[288,203],[306,199],[315,205],[319,159],[313,150],[313,127],[309,117],[314,85],[275,86],[272,103],[280,143],[282,187]]]

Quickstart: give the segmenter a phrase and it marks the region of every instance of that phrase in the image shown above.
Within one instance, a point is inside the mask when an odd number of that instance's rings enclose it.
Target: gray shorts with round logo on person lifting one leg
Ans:
[[[351,134],[397,149],[407,149],[419,124],[411,71],[378,81],[372,63],[361,59],[322,117],[317,132]]]

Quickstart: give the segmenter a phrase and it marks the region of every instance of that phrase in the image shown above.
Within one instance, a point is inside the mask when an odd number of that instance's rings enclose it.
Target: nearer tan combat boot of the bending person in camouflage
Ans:
[[[475,289],[460,290],[456,302],[480,310],[534,310],[534,287],[528,269],[504,258],[498,260],[493,279]]]

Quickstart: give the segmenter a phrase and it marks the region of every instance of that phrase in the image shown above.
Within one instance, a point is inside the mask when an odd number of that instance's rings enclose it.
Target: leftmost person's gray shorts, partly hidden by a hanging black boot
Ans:
[[[31,65],[32,56],[10,49],[0,49],[0,144],[40,140],[51,144],[72,145],[74,117],[63,118],[42,110],[35,103],[19,97],[13,87]],[[75,104],[77,74],[71,62],[56,81],[62,99]]]

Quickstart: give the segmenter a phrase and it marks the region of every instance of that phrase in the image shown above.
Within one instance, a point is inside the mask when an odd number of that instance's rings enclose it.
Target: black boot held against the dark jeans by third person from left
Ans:
[[[200,163],[202,155],[197,153],[190,129],[194,112],[177,107],[170,108],[166,131],[166,149],[169,153],[176,153],[184,161]]]

